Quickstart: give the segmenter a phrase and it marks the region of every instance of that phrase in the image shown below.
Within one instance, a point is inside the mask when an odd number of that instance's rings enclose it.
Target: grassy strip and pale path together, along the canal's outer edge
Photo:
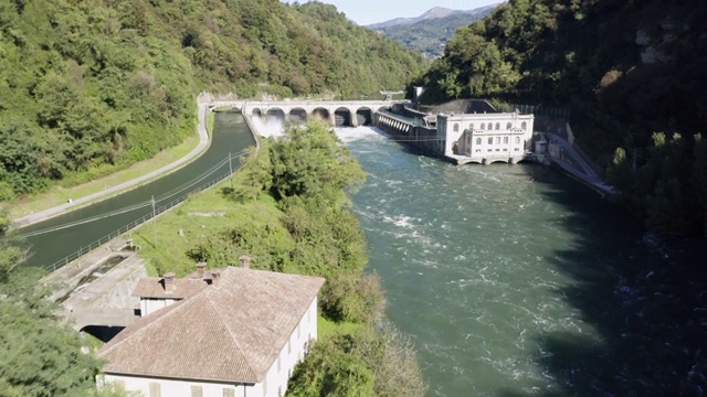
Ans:
[[[176,161],[171,161],[166,165],[161,165],[158,169],[139,176],[134,176],[137,172],[144,172],[145,169],[150,169],[161,164],[159,159],[157,161],[152,159],[135,164],[116,174],[101,178],[94,182],[61,190],[61,193],[53,192],[46,195],[39,195],[28,203],[17,204],[10,208],[10,217],[13,219],[12,223],[17,227],[24,227],[82,206],[113,197],[189,164],[191,161],[199,158],[200,154],[204,153],[211,143],[209,131],[207,129],[208,104],[205,101],[197,103],[197,137],[189,138],[189,140],[198,139],[198,142],[196,142],[196,147],[193,147],[191,151],[184,155],[180,155]],[[193,143],[187,143],[187,146]],[[178,147],[176,151],[180,153],[184,151],[184,148]],[[160,154],[165,155],[162,153]],[[160,154],[157,157],[159,158]],[[167,160],[171,160],[170,157],[166,157]],[[150,162],[152,164],[148,165]],[[63,204],[60,204],[62,202]]]

